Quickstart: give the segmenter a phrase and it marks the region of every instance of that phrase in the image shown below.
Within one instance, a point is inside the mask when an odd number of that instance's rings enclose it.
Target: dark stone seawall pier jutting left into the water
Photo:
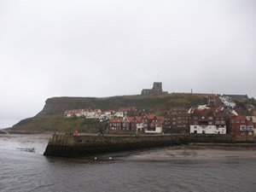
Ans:
[[[72,136],[53,135],[44,155],[81,157],[185,143],[235,143],[231,135]]]

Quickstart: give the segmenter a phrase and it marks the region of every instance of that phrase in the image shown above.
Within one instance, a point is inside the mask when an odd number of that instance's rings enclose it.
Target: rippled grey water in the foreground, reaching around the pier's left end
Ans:
[[[44,157],[49,136],[0,135],[0,191],[255,191],[256,152],[158,149],[84,159]],[[181,155],[183,151],[183,155]],[[221,152],[221,151],[217,151]],[[187,154],[193,154],[188,155]],[[195,155],[195,153],[197,153]]]

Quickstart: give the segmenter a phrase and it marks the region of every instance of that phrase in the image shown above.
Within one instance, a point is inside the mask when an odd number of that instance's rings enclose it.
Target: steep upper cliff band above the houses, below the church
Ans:
[[[101,110],[117,110],[122,107],[135,106],[151,110],[172,107],[190,108],[203,101],[200,96],[189,94],[172,94],[162,96],[112,96],[112,97],[53,97],[47,99],[43,110],[37,116],[60,115],[68,109],[100,108]]]

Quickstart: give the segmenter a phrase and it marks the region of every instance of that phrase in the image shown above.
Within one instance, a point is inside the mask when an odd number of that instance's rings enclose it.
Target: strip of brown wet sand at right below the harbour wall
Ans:
[[[256,157],[255,144],[191,143],[188,145],[158,148],[132,154],[131,157],[148,160],[175,158]]]

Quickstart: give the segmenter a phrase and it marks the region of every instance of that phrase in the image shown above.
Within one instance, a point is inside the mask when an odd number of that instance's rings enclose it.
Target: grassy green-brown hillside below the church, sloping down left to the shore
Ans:
[[[100,108],[104,110],[118,110],[122,107],[135,106],[146,108],[161,114],[173,107],[190,108],[194,104],[205,103],[201,96],[190,94],[168,94],[161,96],[112,96],[112,97],[53,97],[46,100],[44,108],[35,117],[23,119],[14,125],[10,131],[16,132],[44,132],[44,131],[74,131],[98,132],[104,127],[97,121],[84,118],[64,119],[63,113],[67,109]]]

